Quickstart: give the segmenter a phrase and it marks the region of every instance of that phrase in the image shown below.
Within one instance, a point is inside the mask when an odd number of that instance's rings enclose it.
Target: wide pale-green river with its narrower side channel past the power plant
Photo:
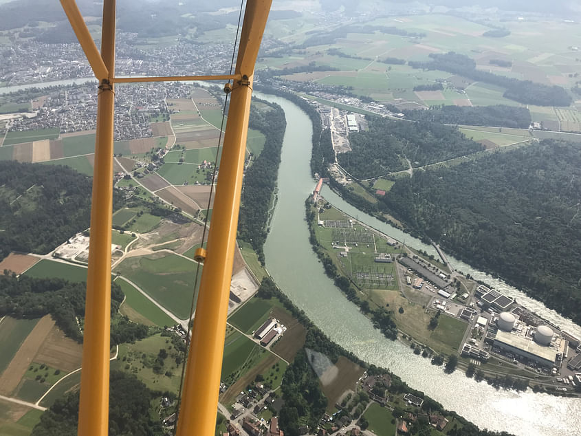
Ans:
[[[288,100],[257,96],[281,105],[287,118],[278,171],[278,202],[265,244],[267,270],[281,290],[333,341],[366,362],[390,369],[413,388],[424,391],[445,408],[457,411],[481,428],[505,430],[522,436],[581,435],[581,400],[536,394],[531,390],[525,393],[496,390],[486,382],[477,383],[466,378],[461,371],[446,375],[441,367],[432,366],[429,360],[416,356],[401,342],[384,338],[358,307],[344,298],[325,275],[309,244],[304,204],[315,186],[309,168],[311,122]],[[349,206],[328,188],[323,190],[323,195],[334,206],[386,235],[399,241],[405,239],[408,246],[436,254],[421,241]],[[456,259],[449,260],[458,270],[518,298],[541,316],[567,327],[571,333],[581,334],[580,327],[542,303],[527,298],[514,287],[493,280]]]

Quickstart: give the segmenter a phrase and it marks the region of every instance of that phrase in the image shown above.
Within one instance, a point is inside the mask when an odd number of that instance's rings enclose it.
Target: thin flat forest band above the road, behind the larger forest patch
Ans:
[[[470,126],[514,127],[528,129],[531,113],[526,107],[494,106],[446,106],[430,109],[398,109],[388,107],[393,112],[404,113],[408,120],[441,122],[443,124],[465,124]]]

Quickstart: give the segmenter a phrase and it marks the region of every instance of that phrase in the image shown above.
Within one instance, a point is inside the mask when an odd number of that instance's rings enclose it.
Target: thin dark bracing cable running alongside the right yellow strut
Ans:
[[[232,75],[232,69],[234,69],[234,56],[236,55],[236,45],[238,43],[238,35],[240,32],[240,22],[242,19],[242,10],[243,10],[243,6],[244,6],[244,0],[241,0],[240,2],[240,12],[238,14],[238,25],[236,28],[236,36],[234,38],[234,47],[232,49],[232,61],[230,61],[230,75]],[[230,80],[228,80],[228,85],[230,85]],[[217,168],[218,168],[218,157],[220,155],[220,149],[221,149],[221,142],[222,142],[222,133],[223,133],[223,128],[224,128],[224,119],[226,118],[226,107],[228,107],[228,95],[226,94],[226,98],[224,98],[224,105],[223,105],[223,109],[222,109],[222,120],[220,123],[220,133],[218,136],[218,146],[216,149],[216,164],[214,165],[214,170],[212,171],[212,182],[210,183],[210,195],[208,196],[208,206],[206,208],[206,217],[204,217],[204,230],[202,231],[202,235],[201,235],[201,247],[204,248],[204,242],[206,240],[206,232],[208,229],[208,217],[210,216],[210,204],[212,204],[212,193],[214,192],[214,186],[215,186],[215,179],[216,179],[216,172],[217,172]],[[175,409],[175,426],[173,427],[173,434],[175,435],[175,432],[177,431],[177,419],[179,417],[179,406],[180,403],[182,402],[182,389],[184,387],[184,376],[186,374],[186,360],[188,359],[188,352],[189,352],[189,347],[190,347],[190,329],[192,326],[192,320],[193,320],[193,316],[194,316],[194,305],[195,305],[195,301],[196,301],[196,288],[197,288],[197,284],[198,284],[198,279],[199,279],[199,262],[197,263],[197,267],[196,267],[196,274],[195,274],[195,280],[194,280],[194,291],[192,293],[192,304],[190,306],[190,316],[188,317],[188,329],[187,329],[187,333],[186,333],[186,347],[184,350],[184,358],[182,359],[182,375],[179,379],[179,391],[177,393],[177,405],[176,405],[176,409]]]

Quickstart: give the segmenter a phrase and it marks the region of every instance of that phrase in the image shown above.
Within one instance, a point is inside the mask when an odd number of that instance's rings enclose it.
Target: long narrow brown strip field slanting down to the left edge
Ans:
[[[0,394],[10,395],[18,387],[21,378],[25,374],[28,366],[34,360],[36,352],[46,339],[50,329],[54,326],[54,321],[50,315],[43,316],[34,326],[28,337],[22,342],[17,353],[12,358],[8,368],[4,370],[0,377]]]

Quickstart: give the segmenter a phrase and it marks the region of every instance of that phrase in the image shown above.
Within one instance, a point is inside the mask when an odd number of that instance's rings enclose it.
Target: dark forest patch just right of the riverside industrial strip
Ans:
[[[337,156],[353,177],[369,179],[474,153],[482,149],[455,127],[432,122],[402,122],[368,117],[369,131],[351,133],[352,151]]]

